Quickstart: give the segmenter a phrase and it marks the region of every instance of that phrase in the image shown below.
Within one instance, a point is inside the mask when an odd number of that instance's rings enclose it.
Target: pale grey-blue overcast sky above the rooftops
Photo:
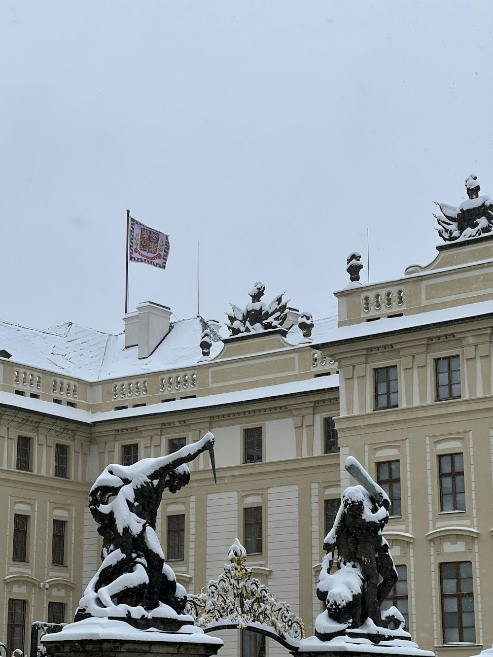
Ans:
[[[1,319],[122,330],[126,209],[170,235],[129,307],[225,319],[256,281],[335,314],[493,196],[491,0],[0,3]]]

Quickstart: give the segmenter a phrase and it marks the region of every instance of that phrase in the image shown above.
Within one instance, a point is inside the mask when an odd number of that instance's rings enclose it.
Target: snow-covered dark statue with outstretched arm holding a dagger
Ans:
[[[190,481],[187,463],[209,450],[214,470],[214,436],[168,456],[133,465],[108,465],[89,492],[89,510],[103,536],[103,563],[87,585],[76,612],[85,618],[115,618],[146,629],[176,626],[187,593],[164,560],[156,514],[165,489],[176,493]]]

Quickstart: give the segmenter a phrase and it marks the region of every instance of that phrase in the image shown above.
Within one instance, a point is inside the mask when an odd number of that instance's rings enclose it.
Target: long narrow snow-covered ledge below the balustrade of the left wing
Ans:
[[[192,411],[194,409],[226,406],[247,401],[273,399],[275,397],[308,394],[310,392],[323,392],[325,390],[337,390],[337,388],[339,388],[339,374],[332,374],[331,376],[319,376],[317,378],[282,383],[275,386],[262,386],[262,388],[223,392],[217,395],[195,397],[193,399],[177,399],[176,401],[168,401],[165,404],[151,404],[149,406],[122,409],[121,411],[99,411],[97,413],[54,404],[51,401],[43,401],[42,399],[20,397],[0,390],[0,405],[21,408],[50,417],[59,417],[70,422],[92,424],[93,422],[107,422],[108,420],[124,419],[127,417],[168,415],[178,411]]]

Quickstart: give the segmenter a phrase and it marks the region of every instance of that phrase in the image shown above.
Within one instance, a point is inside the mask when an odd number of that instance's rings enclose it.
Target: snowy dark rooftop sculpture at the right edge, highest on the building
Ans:
[[[479,196],[481,187],[477,175],[467,176],[465,189],[469,198],[458,208],[434,201],[443,214],[442,217],[433,214],[440,226],[435,230],[446,242],[493,235],[493,200],[489,196]]]

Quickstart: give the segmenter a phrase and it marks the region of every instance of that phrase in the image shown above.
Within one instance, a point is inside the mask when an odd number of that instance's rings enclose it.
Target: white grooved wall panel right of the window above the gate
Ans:
[[[268,498],[269,590],[299,614],[298,486],[271,487]],[[286,649],[271,641],[269,657],[277,655],[285,657]]]

